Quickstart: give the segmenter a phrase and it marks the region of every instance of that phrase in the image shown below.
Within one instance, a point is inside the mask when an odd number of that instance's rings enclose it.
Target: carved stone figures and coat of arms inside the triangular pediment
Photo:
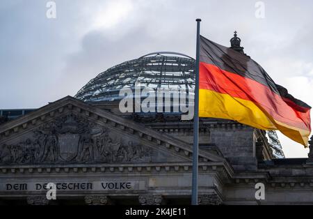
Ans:
[[[67,114],[35,128],[19,143],[0,145],[0,163],[151,162],[152,149],[122,139],[116,133]]]

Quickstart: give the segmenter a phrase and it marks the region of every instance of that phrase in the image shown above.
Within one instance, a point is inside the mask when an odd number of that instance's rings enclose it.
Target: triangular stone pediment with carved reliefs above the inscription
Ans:
[[[0,163],[191,162],[189,144],[67,96],[0,126]],[[202,162],[223,161],[207,151]]]

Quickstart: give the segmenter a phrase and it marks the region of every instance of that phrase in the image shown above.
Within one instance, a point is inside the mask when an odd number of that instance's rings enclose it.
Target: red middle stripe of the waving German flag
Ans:
[[[200,62],[199,89],[208,89],[230,96],[250,100],[261,106],[273,119],[289,126],[311,130],[310,109],[296,110],[284,102],[281,96],[267,86],[241,75],[222,70],[217,66]],[[203,101],[203,100],[202,100]],[[297,107],[300,107],[297,105]],[[304,109],[303,109],[304,108]]]

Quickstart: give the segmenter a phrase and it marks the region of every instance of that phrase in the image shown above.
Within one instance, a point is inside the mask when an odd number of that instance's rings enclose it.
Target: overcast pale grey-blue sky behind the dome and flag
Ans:
[[[262,1],[263,17],[251,0],[55,0],[55,19],[47,18],[47,2],[0,2],[0,109],[74,96],[106,68],[150,52],[194,57],[197,17],[201,34],[221,45],[238,31],[245,52],[277,84],[313,105],[313,1]],[[279,137],[287,157],[307,156]]]

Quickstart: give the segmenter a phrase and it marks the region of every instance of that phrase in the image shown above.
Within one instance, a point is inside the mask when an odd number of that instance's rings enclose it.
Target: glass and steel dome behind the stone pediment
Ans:
[[[120,89],[145,87],[193,94],[195,60],[177,52],[153,52],[125,61],[100,73],[79,90],[75,98],[83,101],[118,100]]]

